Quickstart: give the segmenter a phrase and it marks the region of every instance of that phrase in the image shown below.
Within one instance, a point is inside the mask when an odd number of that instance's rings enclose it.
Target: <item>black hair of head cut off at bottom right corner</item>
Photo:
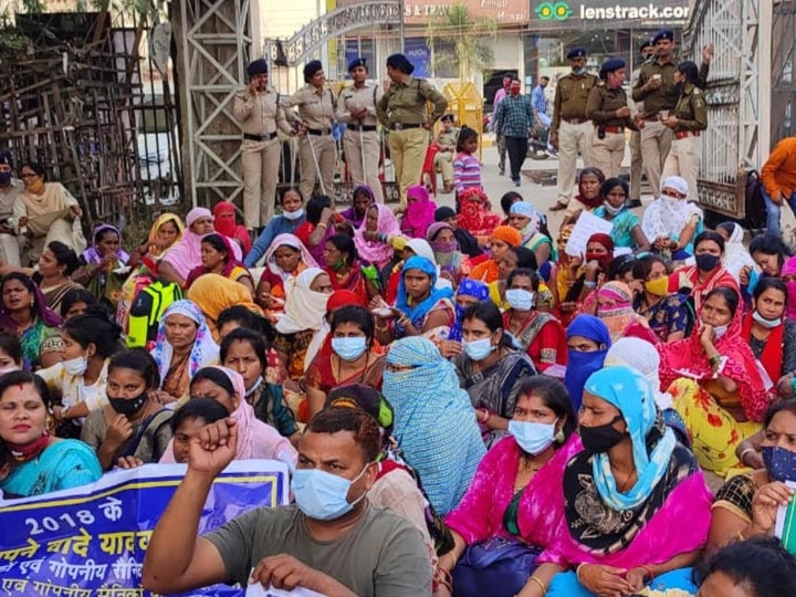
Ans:
[[[776,537],[755,536],[731,543],[694,570],[694,580],[702,585],[718,573],[736,586],[748,587],[756,597],[796,595],[796,558]]]

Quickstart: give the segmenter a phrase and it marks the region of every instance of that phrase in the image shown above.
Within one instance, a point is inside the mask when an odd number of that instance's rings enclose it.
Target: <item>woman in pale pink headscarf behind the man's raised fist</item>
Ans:
[[[238,425],[238,449],[235,459],[279,460],[295,470],[297,453],[287,438],[259,420],[254,409],[245,400],[245,385],[240,374],[227,367],[199,369],[190,384],[191,400],[211,398],[227,409],[228,416]],[[171,443],[160,458],[161,463],[175,461]]]

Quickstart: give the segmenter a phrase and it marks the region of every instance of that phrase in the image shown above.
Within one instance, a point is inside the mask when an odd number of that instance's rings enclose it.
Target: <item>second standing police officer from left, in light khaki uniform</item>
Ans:
[[[298,108],[301,135],[298,160],[301,181],[298,192],[304,202],[312,197],[315,179],[321,180],[321,192],[334,201],[334,171],[337,166],[337,145],[332,137],[337,101],[326,87],[326,75],[321,61],[313,60],[304,66],[304,85],[286,102]]]

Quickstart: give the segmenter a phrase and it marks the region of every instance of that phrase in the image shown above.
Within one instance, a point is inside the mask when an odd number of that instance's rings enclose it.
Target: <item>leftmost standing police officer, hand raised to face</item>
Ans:
[[[292,135],[280,94],[268,84],[268,62],[249,64],[249,86],[234,97],[233,113],[243,129],[243,218],[249,230],[265,226],[274,214],[282,142],[276,130]]]

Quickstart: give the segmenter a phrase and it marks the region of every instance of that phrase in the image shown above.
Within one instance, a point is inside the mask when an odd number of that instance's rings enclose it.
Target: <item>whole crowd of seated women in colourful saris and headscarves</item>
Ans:
[[[235,458],[292,473],[304,426],[355,408],[381,432],[368,499],[418,528],[437,596],[794,595],[772,537],[796,258],[705,229],[683,184],[639,219],[584,170],[555,235],[517,193],[484,234],[425,189],[394,212],[360,188],[345,211],[289,190],[254,239],[227,203],[161,214],[129,253],[109,224],[81,255],[52,241],[0,280],[0,490],[186,462],[224,418]],[[614,232],[569,254],[583,211]],[[155,281],[180,292],[130,348]]]

